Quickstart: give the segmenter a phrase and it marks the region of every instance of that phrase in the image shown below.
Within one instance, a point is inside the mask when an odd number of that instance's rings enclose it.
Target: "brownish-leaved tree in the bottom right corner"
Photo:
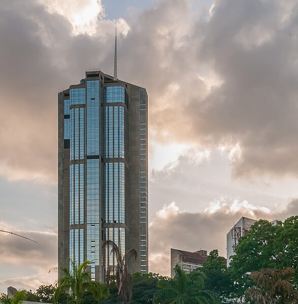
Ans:
[[[245,291],[245,296],[254,304],[296,304],[298,292],[291,283],[293,268],[264,268],[252,272],[249,278],[254,286]]]

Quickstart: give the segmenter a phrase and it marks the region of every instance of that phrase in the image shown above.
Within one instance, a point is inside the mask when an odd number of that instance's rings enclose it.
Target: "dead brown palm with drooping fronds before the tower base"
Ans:
[[[105,241],[103,244],[103,248],[107,247],[108,250],[110,246],[112,247],[111,253],[114,253],[115,255],[117,265],[109,265],[107,267],[107,284],[110,283],[110,275],[114,270],[118,296],[123,304],[124,301],[131,301],[131,298],[133,298],[133,292],[131,290],[131,276],[128,272],[126,262],[130,256],[135,256],[135,258],[137,258],[138,253],[136,249],[133,248],[129,249],[124,255],[122,255],[118,246],[113,241]]]

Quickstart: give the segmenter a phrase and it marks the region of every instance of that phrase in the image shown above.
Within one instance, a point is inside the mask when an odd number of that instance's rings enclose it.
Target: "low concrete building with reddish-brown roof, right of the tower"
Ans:
[[[171,277],[174,276],[173,270],[176,264],[179,264],[184,271],[189,273],[197,267],[202,267],[207,256],[206,250],[190,252],[171,248]]]

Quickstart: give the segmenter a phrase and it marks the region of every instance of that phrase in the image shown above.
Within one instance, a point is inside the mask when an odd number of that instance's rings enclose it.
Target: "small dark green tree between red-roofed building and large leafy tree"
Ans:
[[[226,266],[226,259],[218,255],[217,249],[210,251],[200,270],[206,275],[206,289],[216,293],[222,301],[233,297],[231,293],[234,291],[234,284]]]

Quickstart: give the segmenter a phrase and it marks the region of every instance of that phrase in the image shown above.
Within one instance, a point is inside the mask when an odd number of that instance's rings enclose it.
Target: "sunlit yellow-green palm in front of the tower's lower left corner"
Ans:
[[[64,292],[70,292],[73,296],[73,301],[77,304],[82,302],[84,291],[89,291],[97,301],[108,297],[109,292],[107,286],[92,281],[90,274],[87,272],[86,268],[90,264],[90,261],[84,261],[81,265],[78,265],[73,260],[70,260],[70,263],[70,271],[67,267],[60,268],[63,276],[56,282],[57,288],[54,300]]]

